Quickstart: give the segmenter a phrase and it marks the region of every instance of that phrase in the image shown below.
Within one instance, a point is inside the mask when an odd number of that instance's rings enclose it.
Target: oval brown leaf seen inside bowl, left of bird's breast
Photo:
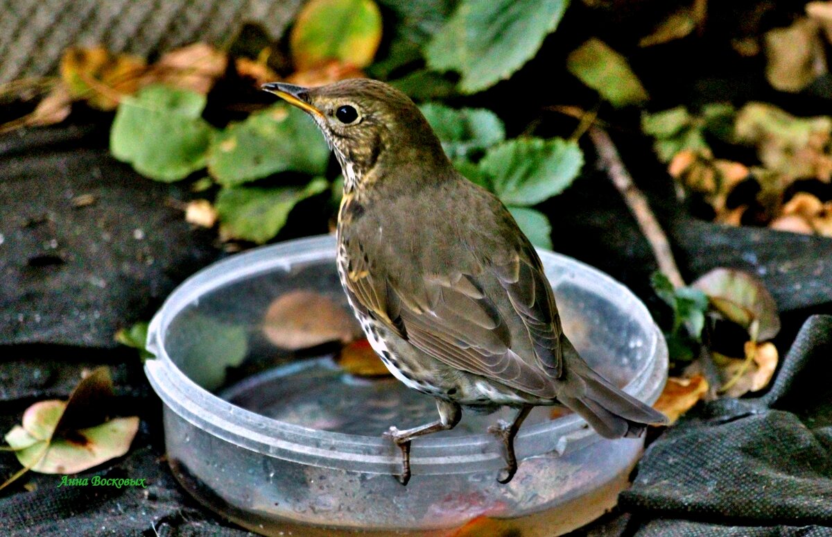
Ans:
[[[361,336],[353,316],[329,296],[297,290],[281,295],[265,312],[263,334],[273,345],[290,351]]]

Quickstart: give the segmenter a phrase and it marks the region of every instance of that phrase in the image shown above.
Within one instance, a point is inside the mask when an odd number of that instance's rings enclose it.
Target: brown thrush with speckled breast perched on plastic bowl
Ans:
[[[439,419],[390,427],[410,477],[410,440],[452,429],[462,406],[518,408],[489,430],[517,471],[513,440],[535,405],[566,405],[607,438],[664,424],[590,369],[563,334],[537,253],[503,203],[453,167],[404,93],[369,79],[265,84],[309,113],[344,172],[338,273],[390,372],[436,398]]]

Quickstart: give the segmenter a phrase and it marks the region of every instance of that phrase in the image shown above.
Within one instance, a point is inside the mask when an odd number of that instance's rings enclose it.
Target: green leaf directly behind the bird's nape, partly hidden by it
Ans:
[[[448,158],[468,157],[503,142],[506,132],[497,114],[483,108],[455,110],[436,102],[419,107],[433,127]]]

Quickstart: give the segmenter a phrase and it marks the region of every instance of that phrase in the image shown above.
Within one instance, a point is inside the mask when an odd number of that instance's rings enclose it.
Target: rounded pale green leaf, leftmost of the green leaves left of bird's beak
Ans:
[[[148,86],[123,97],[110,131],[113,157],[156,181],[179,181],[205,167],[213,129],[201,117],[206,97]]]

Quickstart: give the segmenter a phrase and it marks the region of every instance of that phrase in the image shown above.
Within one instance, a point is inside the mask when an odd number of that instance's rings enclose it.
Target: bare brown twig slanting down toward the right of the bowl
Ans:
[[[685,286],[685,281],[676,266],[676,260],[673,258],[673,252],[671,251],[670,242],[667,241],[665,231],[661,229],[656,216],[653,215],[647,198],[633,183],[630,172],[626,171],[610,135],[601,127],[594,126],[589,129],[589,137],[592,139],[592,143],[595,144],[602,167],[609,173],[612,184],[615,185],[617,191],[624,198],[626,205],[630,208],[633,216],[636,217],[641,232],[644,233],[647,242],[650,243],[653,256],[656,257],[659,264],[659,270],[667,276],[674,287]]]

